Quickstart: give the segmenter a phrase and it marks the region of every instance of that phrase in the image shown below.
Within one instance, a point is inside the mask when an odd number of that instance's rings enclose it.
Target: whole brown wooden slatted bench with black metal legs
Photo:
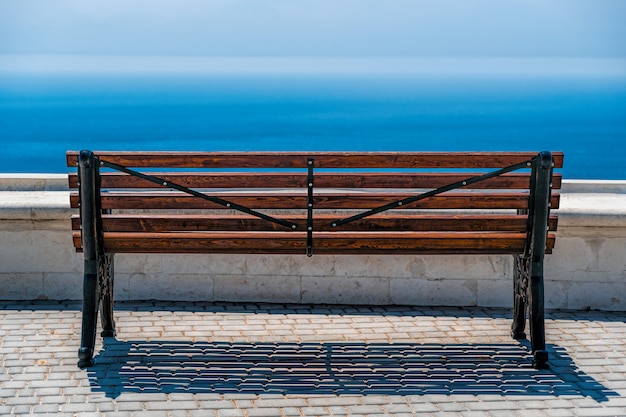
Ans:
[[[74,246],[84,253],[78,366],[98,310],[115,335],[115,253],[508,254],[512,336],[547,366],[544,254],[562,153],[70,151]]]

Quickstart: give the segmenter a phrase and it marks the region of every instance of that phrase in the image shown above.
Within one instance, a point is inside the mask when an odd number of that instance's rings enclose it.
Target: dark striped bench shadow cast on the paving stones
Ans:
[[[280,395],[618,396],[549,345],[551,368],[527,343],[289,343],[105,339],[87,370],[94,392]]]

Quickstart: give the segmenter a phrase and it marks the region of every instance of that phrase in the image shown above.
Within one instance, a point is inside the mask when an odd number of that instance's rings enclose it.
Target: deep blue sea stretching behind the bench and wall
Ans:
[[[461,70],[0,72],[0,172],[65,151],[565,152],[565,178],[626,179],[626,74]]]

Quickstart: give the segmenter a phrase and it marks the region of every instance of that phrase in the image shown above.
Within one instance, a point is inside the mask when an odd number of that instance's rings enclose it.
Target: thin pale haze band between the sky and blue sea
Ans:
[[[0,54],[0,73],[490,75],[626,78],[626,58]]]

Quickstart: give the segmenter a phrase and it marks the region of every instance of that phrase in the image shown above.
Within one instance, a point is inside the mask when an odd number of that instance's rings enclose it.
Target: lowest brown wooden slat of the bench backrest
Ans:
[[[105,233],[109,253],[303,253],[304,232],[230,233]],[[75,245],[80,233],[74,232]],[[318,232],[316,253],[485,253],[517,254],[524,249],[525,233],[452,232]],[[554,236],[548,238],[549,247]],[[77,247],[80,247],[78,245]]]

